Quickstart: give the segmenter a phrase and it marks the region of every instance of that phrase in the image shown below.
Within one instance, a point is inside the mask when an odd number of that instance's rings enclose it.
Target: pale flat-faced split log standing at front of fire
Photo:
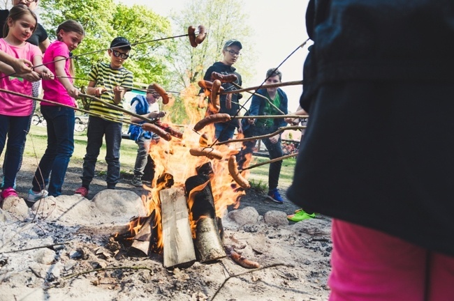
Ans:
[[[196,261],[186,196],[182,188],[159,192],[163,235],[164,267]]]

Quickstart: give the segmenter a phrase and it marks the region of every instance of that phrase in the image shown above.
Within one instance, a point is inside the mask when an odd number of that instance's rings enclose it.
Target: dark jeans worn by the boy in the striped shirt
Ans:
[[[89,116],[87,130],[87,153],[84,157],[82,185],[88,187],[94,178],[94,168],[105,136],[105,162],[107,162],[108,188],[115,188],[120,179],[120,144],[122,144],[122,123],[106,121]]]

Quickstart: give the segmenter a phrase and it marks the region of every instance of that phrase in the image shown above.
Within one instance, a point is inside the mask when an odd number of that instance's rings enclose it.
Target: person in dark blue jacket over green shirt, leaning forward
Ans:
[[[271,68],[266,72],[265,84],[277,84],[282,80],[282,73],[277,68]],[[268,101],[260,96],[252,96],[251,106],[249,107],[249,115],[279,115],[277,109],[270,105],[270,102],[279,108],[284,114],[287,114],[288,98],[286,93],[281,88],[261,88],[256,91],[256,94],[268,98]],[[243,121],[244,137],[261,136],[276,132],[278,128],[285,127],[287,123],[284,118],[245,118]],[[270,159],[282,157],[281,134],[275,134],[272,137],[262,139],[270,154]],[[242,168],[245,155],[251,154],[256,145],[256,140],[246,141],[243,144],[242,151],[238,153],[238,167]],[[284,203],[277,185],[279,184],[279,176],[281,173],[282,161],[272,162],[268,172],[268,199],[276,203]]]

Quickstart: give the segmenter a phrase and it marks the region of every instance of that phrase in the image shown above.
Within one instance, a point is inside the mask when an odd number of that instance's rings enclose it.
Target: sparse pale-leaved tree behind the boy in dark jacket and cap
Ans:
[[[203,8],[203,9],[200,9]],[[180,13],[171,17],[178,33],[186,32],[188,26],[203,24],[207,29],[205,41],[193,48],[188,38],[176,40],[178,56],[174,59],[173,68],[177,73],[177,86],[186,87],[198,82],[203,73],[215,61],[221,59],[221,50],[226,40],[235,38],[247,41],[251,29],[245,26],[247,15],[242,12],[239,0],[191,0]],[[242,42],[244,50],[250,52],[252,47]],[[250,75],[248,61],[235,65],[244,76]]]

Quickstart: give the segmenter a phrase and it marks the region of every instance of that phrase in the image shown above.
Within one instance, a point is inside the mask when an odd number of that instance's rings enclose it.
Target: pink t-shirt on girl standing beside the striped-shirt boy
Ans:
[[[54,43],[50,44],[49,47],[45,50],[43,63],[48,63],[51,61],[55,61],[57,56],[69,57],[69,49],[68,46],[60,41],[55,41]],[[61,59],[61,58],[60,58]],[[46,65],[47,68],[54,74],[55,73],[55,63],[49,63]],[[71,77],[71,73],[69,72],[70,63],[69,60],[65,60],[65,73],[67,77]],[[71,84],[73,83],[73,79],[68,79]],[[66,88],[59,82],[57,77],[54,77],[52,80],[43,81],[43,90],[44,90],[44,99],[45,100],[52,100],[53,102],[59,102],[62,105],[69,105],[75,107],[75,100],[68,95]],[[42,106],[52,105],[49,102],[41,102]]]

